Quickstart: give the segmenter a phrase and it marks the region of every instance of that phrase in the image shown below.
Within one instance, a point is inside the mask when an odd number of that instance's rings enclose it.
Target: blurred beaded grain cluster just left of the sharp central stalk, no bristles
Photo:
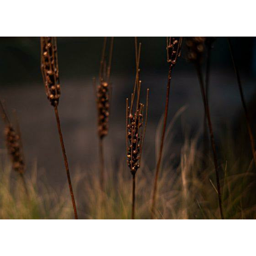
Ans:
[[[102,81],[97,87],[98,133],[103,138],[108,133],[109,84]]]

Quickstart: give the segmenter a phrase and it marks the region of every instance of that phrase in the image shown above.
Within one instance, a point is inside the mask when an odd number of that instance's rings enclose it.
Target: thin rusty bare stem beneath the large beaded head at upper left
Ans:
[[[62,132],[61,132],[61,128],[60,128],[59,112],[58,112],[58,106],[57,105],[54,106],[54,111],[55,111],[58,131],[59,131],[59,140],[60,140],[61,149],[62,149],[62,153],[63,153],[64,164],[65,164],[65,167],[66,167],[68,181],[69,181],[69,190],[70,190],[70,196],[71,196],[72,204],[73,204],[73,208],[74,208],[75,219],[78,219],[77,218],[76,206],[75,206],[75,197],[74,197],[72,183],[71,183],[70,174],[69,174],[68,159],[67,159],[67,155],[66,155],[66,151],[65,151],[65,147],[64,147],[64,141],[63,141],[63,137],[62,137]]]

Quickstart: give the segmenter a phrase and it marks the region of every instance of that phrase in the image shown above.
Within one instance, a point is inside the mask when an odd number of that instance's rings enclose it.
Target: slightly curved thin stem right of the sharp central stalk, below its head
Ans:
[[[153,219],[154,214],[155,214],[155,197],[156,197],[156,192],[157,192],[157,181],[158,181],[158,175],[159,175],[160,164],[161,164],[162,153],[163,153],[164,140],[165,140],[165,130],[166,130],[166,123],[167,123],[167,116],[168,116],[168,105],[169,105],[170,84],[171,84],[171,70],[172,70],[172,65],[169,64],[167,90],[166,90],[166,98],[165,98],[164,125],[163,125],[163,130],[162,130],[160,152],[159,152],[157,165],[156,165],[156,171],[155,171],[154,189],[153,189],[152,203],[151,203],[151,219]]]

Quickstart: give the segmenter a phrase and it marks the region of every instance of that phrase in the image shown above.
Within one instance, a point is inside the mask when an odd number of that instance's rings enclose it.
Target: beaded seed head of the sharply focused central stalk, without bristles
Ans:
[[[137,110],[134,114],[129,114],[128,120],[128,166],[131,169],[131,173],[135,174],[139,169],[139,159],[141,153],[141,146],[139,144],[140,134],[139,130],[142,126],[142,122],[140,122],[142,114]]]

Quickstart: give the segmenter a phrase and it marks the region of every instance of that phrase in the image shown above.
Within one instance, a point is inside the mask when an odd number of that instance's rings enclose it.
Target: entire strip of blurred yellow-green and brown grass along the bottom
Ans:
[[[167,128],[163,163],[159,177],[156,219],[220,219],[215,172],[211,151],[203,155],[199,135],[186,136],[179,155],[171,152],[173,126],[181,108]],[[159,129],[156,132],[156,149]],[[234,139],[231,129],[220,140],[220,185],[225,219],[255,219],[256,174],[242,135]],[[146,135],[147,136],[147,135]],[[157,152],[157,150],[156,150]],[[11,170],[5,150],[0,154],[0,219],[73,219],[69,188],[56,191],[47,180],[38,178],[37,166],[28,171],[27,197],[17,173]],[[175,159],[175,160],[174,160]],[[178,159],[178,165],[176,163]],[[206,165],[207,164],[207,165]],[[205,167],[206,166],[206,167]],[[130,219],[132,175],[125,157],[116,166],[108,163],[106,190],[101,192],[98,169],[78,169],[72,176],[81,219]],[[154,170],[146,157],[136,174],[135,219],[149,219]]]

